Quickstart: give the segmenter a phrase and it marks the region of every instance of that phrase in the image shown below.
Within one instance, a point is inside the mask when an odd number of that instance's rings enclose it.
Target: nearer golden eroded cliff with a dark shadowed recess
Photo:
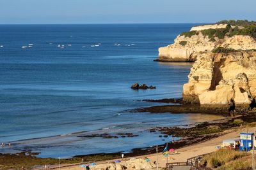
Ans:
[[[256,52],[198,54],[183,100],[215,108],[249,108],[256,98]]]

